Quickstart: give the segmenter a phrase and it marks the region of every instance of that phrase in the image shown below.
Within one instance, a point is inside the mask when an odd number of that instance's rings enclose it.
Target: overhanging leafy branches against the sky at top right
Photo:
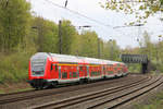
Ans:
[[[116,12],[135,14],[136,21],[126,23],[126,25],[134,25],[135,23],[147,23],[146,20],[150,15],[158,11],[163,12],[163,0],[106,0],[105,4],[101,3],[101,7],[116,10]]]

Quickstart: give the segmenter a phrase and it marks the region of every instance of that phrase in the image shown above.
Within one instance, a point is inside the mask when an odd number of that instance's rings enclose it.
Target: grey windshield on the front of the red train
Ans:
[[[34,76],[42,76],[45,74],[46,59],[32,60],[32,73]]]

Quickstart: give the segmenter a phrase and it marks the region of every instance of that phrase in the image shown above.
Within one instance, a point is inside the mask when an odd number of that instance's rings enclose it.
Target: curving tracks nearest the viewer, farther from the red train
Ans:
[[[92,92],[63,100],[52,101],[32,109],[113,109],[137,98],[163,83],[162,76],[149,77],[130,84]]]

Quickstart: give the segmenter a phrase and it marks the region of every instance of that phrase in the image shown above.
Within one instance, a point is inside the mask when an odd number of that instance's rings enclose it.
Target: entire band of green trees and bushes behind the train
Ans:
[[[26,0],[8,1],[0,1],[0,84],[26,82],[30,56],[38,51],[59,53],[60,48],[58,23],[32,14]],[[146,53],[151,58],[152,70],[163,72],[163,41],[152,44],[150,35],[143,35],[141,49],[121,49],[116,40],[101,39],[90,29],[79,33],[71,21],[62,20],[62,53],[99,58],[99,41],[101,59],[120,61],[120,53]],[[130,72],[139,70],[139,64],[129,65]]]

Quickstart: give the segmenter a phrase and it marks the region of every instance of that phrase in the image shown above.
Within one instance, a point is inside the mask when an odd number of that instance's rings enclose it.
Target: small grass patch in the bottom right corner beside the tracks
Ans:
[[[149,105],[138,105],[137,109],[163,109],[163,92],[151,99]]]

